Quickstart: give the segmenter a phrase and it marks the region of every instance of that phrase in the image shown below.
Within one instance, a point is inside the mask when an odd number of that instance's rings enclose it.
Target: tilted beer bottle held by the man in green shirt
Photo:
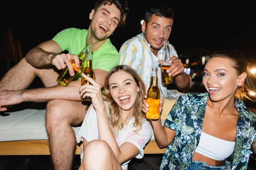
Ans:
[[[74,79],[76,74],[82,68],[83,61],[84,61],[84,59],[85,59],[85,57],[87,55],[86,54],[86,49],[87,48],[92,48],[92,45],[87,44],[86,47],[78,54],[79,64],[80,64],[79,68],[76,68],[75,60],[73,60],[73,59],[70,60],[72,66],[73,66],[75,74],[73,76],[70,76],[69,69],[66,66],[66,68],[64,68],[64,70],[61,72],[61,74],[57,78],[57,82],[58,82],[59,85],[61,85],[61,86],[68,86],[70,84],[70,82],[72,82],[72,80]]]

